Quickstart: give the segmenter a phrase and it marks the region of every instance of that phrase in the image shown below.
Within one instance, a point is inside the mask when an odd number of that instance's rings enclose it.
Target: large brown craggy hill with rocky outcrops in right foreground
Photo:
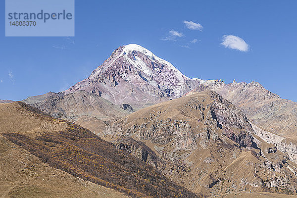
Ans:
[[[100,135],[206,196],[241,191],[296,195],[297,165],[256,134],[261,135],[240,109],[205,91],[131,113]]]

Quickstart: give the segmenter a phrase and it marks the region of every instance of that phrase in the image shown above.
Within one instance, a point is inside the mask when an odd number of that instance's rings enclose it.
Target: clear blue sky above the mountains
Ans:
[[[0,6],[0,99],[65,90],[135,43],[186,76],[253,80],[297,101],[296,0],[76,0],[75,37],[5,37]]]

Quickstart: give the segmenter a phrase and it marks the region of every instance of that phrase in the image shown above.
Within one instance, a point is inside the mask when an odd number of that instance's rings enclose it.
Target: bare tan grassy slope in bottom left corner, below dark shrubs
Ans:
[[[115,190],[50,167],[1,135],[0,197],[128,198]]]

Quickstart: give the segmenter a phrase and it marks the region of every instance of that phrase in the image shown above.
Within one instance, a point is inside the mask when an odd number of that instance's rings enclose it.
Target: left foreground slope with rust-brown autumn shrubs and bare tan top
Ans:
[[[50,166],[132,197],[198,197],[79,125],[23,102],[0,108],[0,133]]]

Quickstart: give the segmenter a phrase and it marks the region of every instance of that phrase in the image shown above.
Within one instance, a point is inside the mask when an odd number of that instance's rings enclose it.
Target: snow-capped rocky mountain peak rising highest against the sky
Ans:
[[[141,107],[164,98],[179,98],[203,82],[183,75],[170,62],[148,49],[129,44],[114,50],[91,76],[64,93],[85,90],[115,104],[130,103]]]

